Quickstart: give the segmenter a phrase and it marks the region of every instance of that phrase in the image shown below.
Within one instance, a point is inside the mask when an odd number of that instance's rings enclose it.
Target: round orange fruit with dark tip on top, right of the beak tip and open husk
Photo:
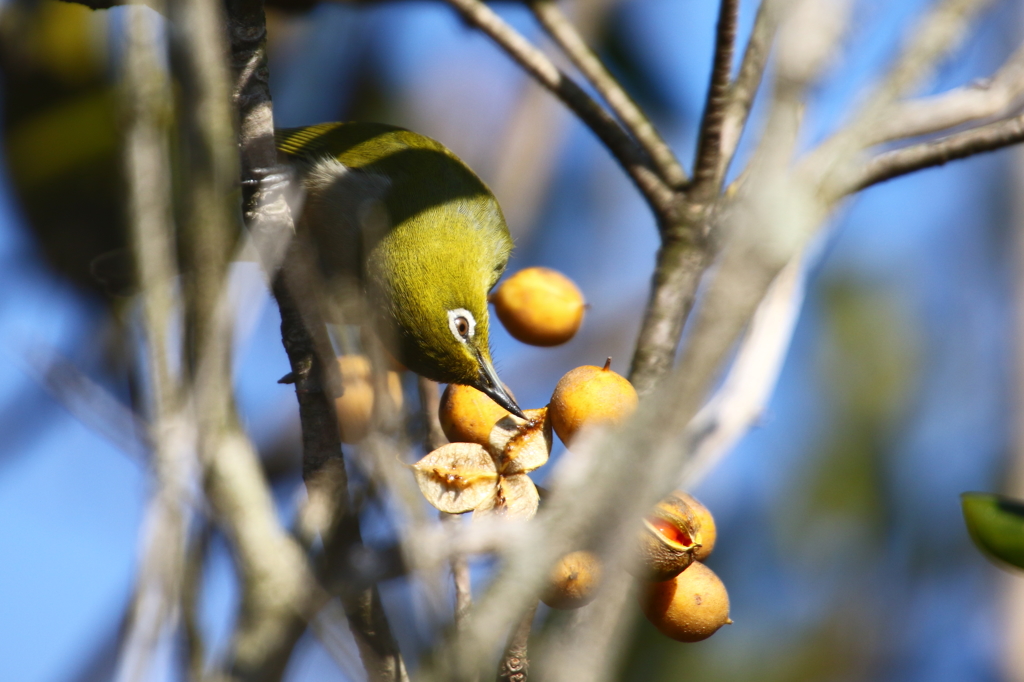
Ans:
[[[637,409],[637,392],[622,375],[612,372],[611,358],[603,368],[586,365],[558,380],[548,406],[551,425],[566,445],[580,429],[617,424]]]

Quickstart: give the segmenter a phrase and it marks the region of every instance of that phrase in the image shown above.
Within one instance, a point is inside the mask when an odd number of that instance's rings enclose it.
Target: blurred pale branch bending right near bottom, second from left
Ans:
[[[178,27],[172,65],[182,84],[183,249],[188,287],[193,393],[205,488],[237,557],[242,600],[231,641],[230,675],[275,680],[286,655],[274,644],[300,629],[316,583],[298,544],[282,527],[252,443],[236,414],[230,363],[227,264],[237,239],[230,204],[239,166],[221,6],[182,0],[170,7]]]

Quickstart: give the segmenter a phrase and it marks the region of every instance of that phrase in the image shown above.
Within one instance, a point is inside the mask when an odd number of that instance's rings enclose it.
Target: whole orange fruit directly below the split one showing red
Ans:
[[[662,632],[680,642],[699,642],[729,623],[729,593],[711,568],[693,562],[664,583],[641,585],[640,608]]]

